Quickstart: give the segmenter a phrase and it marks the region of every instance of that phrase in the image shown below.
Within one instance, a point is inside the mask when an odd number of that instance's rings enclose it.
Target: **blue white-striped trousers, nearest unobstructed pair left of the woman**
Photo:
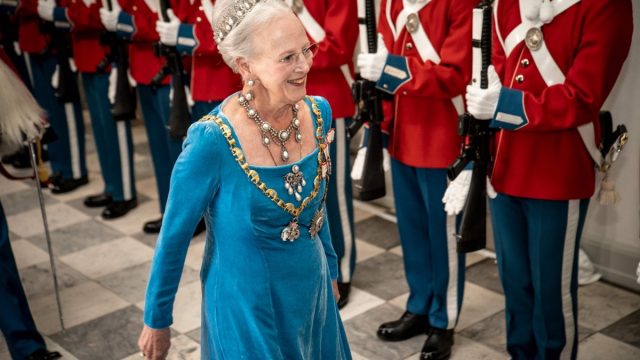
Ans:
[[[131,123],[115,121],[111,116],[111,103],[107,97],[109,74],[82,73],[82,84],[89,105],[104,192],[114,201],[131,200],[136,197]]]

